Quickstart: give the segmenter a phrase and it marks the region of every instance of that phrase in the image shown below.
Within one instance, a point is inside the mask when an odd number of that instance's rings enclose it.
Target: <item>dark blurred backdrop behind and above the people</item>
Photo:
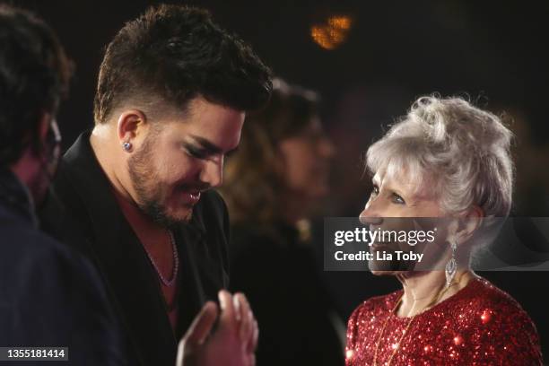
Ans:
[[[92,126],[92,100],[102,50],[122,24],[149,4],[132,1],[12,1],[51,24],[74,59],[76,77],[58,120],[65,147]],[[468,95],[506,112],[517,138],[513,214],[549,216],[549,2],[529,1],[192,1],[246,39],[291,83],[318,90],[323,118],[338,148],[334,190],[325,215],[360,213],[370,191],[361,153],[418,96]],[[351,16],[346,41],[321,48],[310,27],[335,14]],[[541,248],[546,251],[546,248]],[[536,322],[549,354],[549,274],[487,273]],[[328,273],[342,316],[359,301],[396,288],[365,273]]]

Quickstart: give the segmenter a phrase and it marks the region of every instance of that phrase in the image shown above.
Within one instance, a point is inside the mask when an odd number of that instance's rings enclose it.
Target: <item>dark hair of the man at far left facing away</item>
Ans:
[[[0,166],[39,149],[39,121],[68,92],[72,63],[56,35],[30,12],[0,4]]]

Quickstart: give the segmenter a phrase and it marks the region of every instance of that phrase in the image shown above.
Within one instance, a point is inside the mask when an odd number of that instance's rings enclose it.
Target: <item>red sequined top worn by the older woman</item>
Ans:
[[[347,366],[387,365],[389,360],[390,365],[542,364],[532,320],[484,278],[472,279],[411,322],[392,311],[402,293],[375,297],[354,309],[347,328]]]

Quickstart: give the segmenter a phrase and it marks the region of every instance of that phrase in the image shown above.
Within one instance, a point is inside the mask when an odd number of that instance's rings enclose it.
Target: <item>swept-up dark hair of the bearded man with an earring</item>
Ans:
[[[205,10],[175,4],[148,8],[109,43],[94,101],[105,123],[126,101],[166,101],[184,109],[198,96],[232,109],[266,104],[271,72],[236,35]]]

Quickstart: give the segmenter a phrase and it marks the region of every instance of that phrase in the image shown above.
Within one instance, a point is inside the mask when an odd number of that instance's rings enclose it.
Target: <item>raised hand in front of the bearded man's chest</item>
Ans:
[[[176,366],[254,366],[257,347],[257,321],[246,297],[219,292],[221,315],[217,329],[213,324],[219,310],[208,301],[187,334],[179,343]]]

